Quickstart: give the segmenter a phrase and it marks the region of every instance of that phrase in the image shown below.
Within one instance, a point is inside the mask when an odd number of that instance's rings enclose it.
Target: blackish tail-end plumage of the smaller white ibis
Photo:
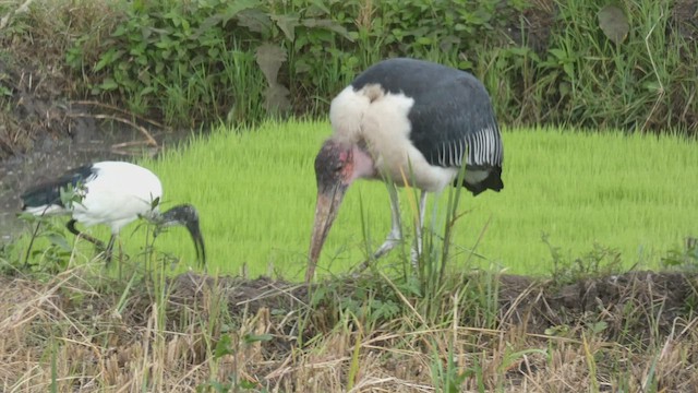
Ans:
[[[55,180],[31,187],[20,196],[23,203],[22,209],[51,204],[63,206],[61,189],[67,188],[69,184],[76,187],[77,183],[84,183],[95,175],[92,165],[84,165],[65,172]]]

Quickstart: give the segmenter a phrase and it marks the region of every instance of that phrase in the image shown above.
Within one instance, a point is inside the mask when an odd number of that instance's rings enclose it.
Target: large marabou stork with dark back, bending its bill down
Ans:
[[[428,192],[464,186],[474,195],[500,191],[503,146],[490,95],[472,74],[414,60],[381,61],[332,102],[334,134],[315,158],[317,202],[305,281],[312,281],[323,243],[347,188],[360,178],[419,188],[421,230]],[[462,184],[459,168],[466,165]],[[401,239],[397,190],[388,187],[392,229],[378,258]],[[419,233],[418,233],[419,235]],[[421,247],[418,236],[417,248]]]

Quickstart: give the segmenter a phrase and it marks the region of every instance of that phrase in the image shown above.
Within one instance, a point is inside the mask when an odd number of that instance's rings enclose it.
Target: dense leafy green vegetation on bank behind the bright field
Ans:
[[[688,0],[73,3],[31,2],[0,31],[5,56],[44,50],[74,97],[173,126],[324,117],[358,72],[409,56],[472,71],[512,126],[698,127]]]

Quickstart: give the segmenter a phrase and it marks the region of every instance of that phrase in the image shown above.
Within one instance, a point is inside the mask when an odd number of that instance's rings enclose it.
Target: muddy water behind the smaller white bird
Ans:
[[[168,146],[186,138],[186,132],[155,132],[152,136],[159,145]],[[124,144],[127,144],[124,146]],[[91,127],[75,130],[72,138],[46,138],[35,142],[32,153],[0,162],[0,245],[12,241],[26,225],[17,219],[20,194],[29,186],[49,180],[70,168],[99,160],[134,160],[157,155],[158,148],[148,147],[143,134],[132,129],[111,130]]]

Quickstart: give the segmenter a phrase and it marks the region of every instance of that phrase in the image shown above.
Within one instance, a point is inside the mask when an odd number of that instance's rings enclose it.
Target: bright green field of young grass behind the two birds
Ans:
[[[298,121],[266,123],[254,132],[219,129],[144,165],[163,179],[166,205],[189,201],[200,209],[214,270],[234,274],[245,264],[253,277],[279,272],[300,278],[314,214],[313,160],[328,133],[324,122]],[[455,264],[494,263],[512,273],[544,275],[553,269],[542,241],[547,234],[563,259],[598,243],[617,250],[625,267],[658,267],[667,250],[698,235],[698,177],[690,176],[698,165],[695,141],[541,129],[506,130],[503,138],[505,188],[461,199],[460,210],[469,213],[456,226],[454,242],[461,252]],[[410,214],[407,195],[400,192],[404,222]],[[441,212],[446,196],[430,202],[436,200]],[[359,181],[329,234],[321,272],[344,272],[365,258],[362,209],[371,248],[383,241],[389,229],[387,191],[381,182]],[[469,258],[481,233],[479,257]],[[185,236],[164,236],[158,248],[191,260]],[[398,259],[395,252],[382,263]]]

